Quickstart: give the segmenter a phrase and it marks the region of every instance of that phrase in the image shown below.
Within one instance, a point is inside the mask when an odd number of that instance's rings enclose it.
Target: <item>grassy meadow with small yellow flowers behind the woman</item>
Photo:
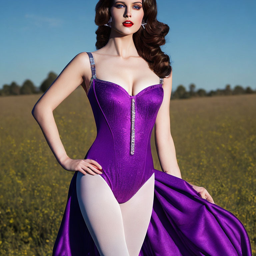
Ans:
[[[52,255],[73,172],[55,159],[31,114],[39,95],[0,98],[0,255]],[[171,134],[182,178],[205,187],[247,229],[256,256],[256,95],[171,100]],[[96,137],[82,87],[53,112],[69,157]],[[161,170],[151,137],[155,169]]]

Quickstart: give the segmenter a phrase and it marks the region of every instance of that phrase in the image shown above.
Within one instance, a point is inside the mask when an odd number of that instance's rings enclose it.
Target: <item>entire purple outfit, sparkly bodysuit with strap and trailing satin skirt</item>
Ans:
[[[113,82],[92,78],[87,91],[97,136],[85,159],[102,166],[101,177],[125,203],[155,174],[150,223],[139,256],[251,256],[245,227],[231,212],[203,199],[183,179],[154,169],[150,138],[162,104],[160,83],[130,95]],[[53,256],[99,256],[83,219],[72,177]],[[97,188],[95,188],[97,189]]]

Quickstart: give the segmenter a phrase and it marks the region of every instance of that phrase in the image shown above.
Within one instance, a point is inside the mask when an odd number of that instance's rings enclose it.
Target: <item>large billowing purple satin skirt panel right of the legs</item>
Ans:
[[[153,211],[139,256],[252,255],[234,214],[203,199],[187,181],[154,172]]]

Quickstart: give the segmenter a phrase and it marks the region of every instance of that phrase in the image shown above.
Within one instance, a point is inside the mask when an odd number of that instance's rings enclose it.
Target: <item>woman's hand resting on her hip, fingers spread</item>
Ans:
[[[102,170],[102,167],[92,159],[67,158],[63,161],[62,167],[67,171],[79,171],[84,175],[86,175],[86,173],[91,175],[102,174],[100,171]]]

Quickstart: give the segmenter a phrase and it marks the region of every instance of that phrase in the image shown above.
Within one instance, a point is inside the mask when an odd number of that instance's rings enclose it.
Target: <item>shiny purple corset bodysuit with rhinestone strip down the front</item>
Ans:
[[[102,166],[101,176],[123,203],[154,173],[150,138],[163,101],[162,84],[129,95],[115,83],[92,78],[87,96],[97,136],[85,158]]]

